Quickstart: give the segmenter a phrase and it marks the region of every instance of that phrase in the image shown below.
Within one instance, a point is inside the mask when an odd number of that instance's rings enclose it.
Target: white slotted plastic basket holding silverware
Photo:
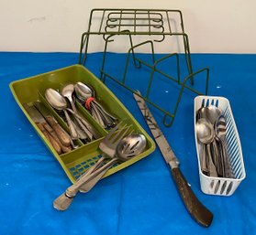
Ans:
[[[195,132],[195,145],[198,159],[199,176],[201,190],[210,195],[217,196],[231,196],[240,182],[245,178],[245,168],[243,164],[243,156],[241,151],[241,145],[239,141],[239,133],[237,130],[236,123],[233,118],[231,107],[228,99],[217,96],[197,96],[195,97],[195,115],[194,120],[196,123],[196,113],[202,107],[202,105],[215,105],[217,106],[224,115],[227,123],[226,132],[226,146],[228,151],[228,158],[232,168],[232,172],[235,178],[225,177],[212,177],[206,176],[201,170],[201,158],[202,158],[202,147],[198,143],[196,132]]]

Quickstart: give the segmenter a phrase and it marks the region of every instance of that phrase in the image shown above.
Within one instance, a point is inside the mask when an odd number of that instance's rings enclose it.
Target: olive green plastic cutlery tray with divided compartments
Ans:
[[[66,123],[64,123],[58,113],[50,107],[43,94],[47,88],[59,89],[61,84],[75,83],[77,81],[82,81],[91,85],[95,89],[97,100],[103,103],[109,112],[117,116],[118,120],[122,120],[124,123],[132,124],[134,130],[138,133],[144,134],[147,139],[147,148],[142,154],[131,158],[127,162],[113,166],[106,172],[104,177],[110,176],[117,171],[134,164],[141,158],[150,155],[150,153],[154,151],[154,142],[145,132],[145,130],[139,125],[139,123],[134,119],[131,113],[128,112],[128,110],[117,99],[117,97],[106,88],[106,85],[101,80],[98,80],[92,72],[84,68],[82,65],[72,65],[63,69],[57,69],[47,73],[39,74],[28,79],[13,81],[10,83],[10,88],[17,101],[17,104],[27,116],[28,121],[36,129],[41,139],[48,146],[50,152],[61,164],[63,170],[70,178],[72,183],[74,183],[76,179],[83,174],[84,171],[90,168],[90,166],[95,165],[95,162],[101,156],[98,145],[104,136],[106,136],[107,131],[95,122],[91,114],[87,112],[80,103],[76,102],[76,107],[80,114],[82,114],[87,119],[87,121],[95,127],[101,137],[89,144],[83,144],[78,140],[77,144],[80,145],[79,148],[72,150],[70,153],[58,155],[48,140],[39,131],[38,126],[29,117],[28,112],[26,112],[22,104],[33,101],[43,102],[48,107],[52,115],[61,124],[61,127],[68,132]]]

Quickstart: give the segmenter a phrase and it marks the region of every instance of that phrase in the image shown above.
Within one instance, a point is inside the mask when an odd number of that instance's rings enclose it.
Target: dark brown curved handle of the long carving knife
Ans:
[[[213,214],[196,197],[191,187],[187,184],[179,167],[172,169],[173,179],[183,198],[184,205],[195,221],[204,227],[209,227],[213,220]]]

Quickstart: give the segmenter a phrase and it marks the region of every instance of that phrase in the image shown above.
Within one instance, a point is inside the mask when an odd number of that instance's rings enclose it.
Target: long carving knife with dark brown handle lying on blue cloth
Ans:
[[[139,91],[137,91],[137,93],[140,95]],[[142,115],[150,128],[150,132],[161,150],[161,155],[163,155],[166,163],[171,167],[173,180],[184,201],[185,207],[195,221],[204,227],[209,227],[213,219],[213,214],[195,197],[194,192],[188,185],[179,168],[178,159],[174,155],[171,146],[162,134],[161,129],[152,116],[146,102],[137,93],[134,93],[133,95],[138,103],[139,110],[142,112]]]

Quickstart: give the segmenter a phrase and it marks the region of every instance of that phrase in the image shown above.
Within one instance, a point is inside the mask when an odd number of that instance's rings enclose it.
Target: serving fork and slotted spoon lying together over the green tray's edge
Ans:
[[[143,134],[134,134],[131,125],[117,124],[99,144],[102,157],[53,202],[54,208],[66,210],[78,192],[87,193],[106,174],[106,171],[117,162],[126,162],[141,154],[147,145]]]

